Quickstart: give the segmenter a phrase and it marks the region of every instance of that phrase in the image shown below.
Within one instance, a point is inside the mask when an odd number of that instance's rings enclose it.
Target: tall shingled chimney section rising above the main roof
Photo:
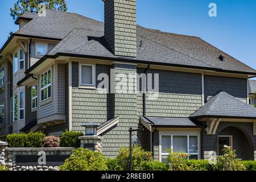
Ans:
[[[136,57],[136,0],[102,0],[104,36],[115,56]]]

